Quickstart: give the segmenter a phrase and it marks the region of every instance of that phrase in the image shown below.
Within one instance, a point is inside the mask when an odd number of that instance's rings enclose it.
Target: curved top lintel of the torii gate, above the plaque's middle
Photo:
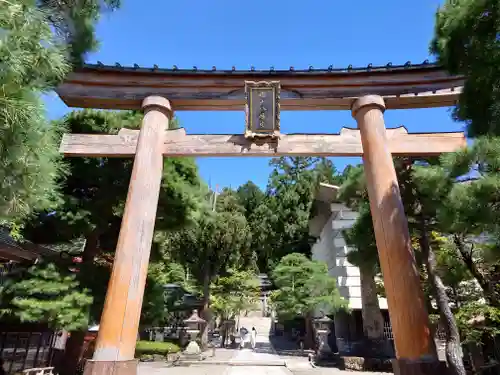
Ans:
[[[245,81],[280,81],[281,110],[350,110],[367,94],[387,108],[456,103],[464,79],[432,64],[345,70],[199,71],[87,65],[56,89],[72,107],[139,109],[149,95],[168,97],[176,111],[243,111]]]

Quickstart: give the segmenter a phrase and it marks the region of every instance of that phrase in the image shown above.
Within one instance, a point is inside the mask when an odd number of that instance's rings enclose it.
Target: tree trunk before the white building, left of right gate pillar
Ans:
[[[375,273],[371,267],[360,268],[360,280],[364,334],[370,340],[381,340],[384,336],[384,317],[380,311]]]

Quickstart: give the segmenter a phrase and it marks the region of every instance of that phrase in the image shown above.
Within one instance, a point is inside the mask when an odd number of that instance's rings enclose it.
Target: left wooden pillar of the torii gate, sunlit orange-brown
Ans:
[[[163,172],[163,141],[170,102],[151,96],[143,101],[140,130],[113,272],[101,317],[94,358],[85,375],[135,375],[135,345],[153,240]]]

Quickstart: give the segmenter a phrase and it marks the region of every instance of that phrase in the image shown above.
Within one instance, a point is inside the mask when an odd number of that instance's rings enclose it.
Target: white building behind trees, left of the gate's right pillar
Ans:
[[[350,228],[357,213],[336,201],[338,187],[320,184],[309,221],[309,234],[317,238],[312,246],[312,258],[328,265],[328,272],[337,281],[340,294],[349,302],[351,314],[338,313],[334,317],[335,336],[349,342],[363,338],[363,320],[361,317],[361,281],[359,268],[347,261],[349,248],[342,235]],[[387,300],[379,298],[380,308],[388,324]]]

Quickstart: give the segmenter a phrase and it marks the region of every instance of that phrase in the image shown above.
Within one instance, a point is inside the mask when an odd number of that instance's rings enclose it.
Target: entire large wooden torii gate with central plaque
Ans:
[[[134,352],[163,157],[278,155],[363,157],[394,333],[394,371],[440,372],[392,156],[451,152],[465,146],[465,137],[408,134],[404,128],[386,131],[383,113],[454,105],[462,85],[462,77],[449,76],[429,63],[303,71],[144,69],[99,63],[70,74],[57,89],[68,106],[144,111],[140,131],[66,134],[61,144],[66,156],[135,157],[95,354],[85,374],[137,372]],[[244,135],[168,130],[173,109],[245,108]],[[351,110],[359,130],[344,128],[338,135],[280,134],[280,110]]]

